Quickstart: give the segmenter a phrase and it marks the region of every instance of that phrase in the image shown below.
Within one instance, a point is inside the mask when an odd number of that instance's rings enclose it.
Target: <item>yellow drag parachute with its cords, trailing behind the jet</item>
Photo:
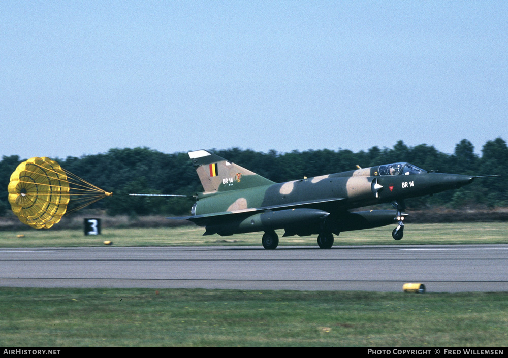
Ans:
[[[8,190],[14,214],[36,229],[49,229],[66,212],[112,194],[73,175],[47,157],[23,161],[12,173]],[[68,211],[71,201],[78,205]]]

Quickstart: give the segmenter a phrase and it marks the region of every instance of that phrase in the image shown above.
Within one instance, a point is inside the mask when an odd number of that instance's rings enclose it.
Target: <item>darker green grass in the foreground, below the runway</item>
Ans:
[[[2,288],[0,346],[505,346],[508,292]]]

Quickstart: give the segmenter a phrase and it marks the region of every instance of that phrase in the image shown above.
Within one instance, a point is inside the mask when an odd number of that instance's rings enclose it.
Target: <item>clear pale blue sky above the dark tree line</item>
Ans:
[[[505,1],[0,2],[0,155],[508,140]],[[403,160],[403,158],[401,158]]]

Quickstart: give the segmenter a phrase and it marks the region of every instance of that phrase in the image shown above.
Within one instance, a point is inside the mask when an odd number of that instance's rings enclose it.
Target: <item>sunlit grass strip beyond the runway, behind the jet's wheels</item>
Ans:
[[[393,226],[394,227],[394,226]],[[508,222],[408,224],[404,238],[392,239],[392,226],[351,231],[335,236],[335,245],[423,245],[423,244],[505,244]],[[85,236],[81,230],[0,231],[0,247],[90,247],[112,241],[115,246],[261,246],[262,233],[220,237],[202,236],[204,229],[180,226],[158,229],[108,229],[99,236]],[[18,237],[23,235],[23,237]],[[278,231],[279,245],[313,245],[316,237],[286,237]]]

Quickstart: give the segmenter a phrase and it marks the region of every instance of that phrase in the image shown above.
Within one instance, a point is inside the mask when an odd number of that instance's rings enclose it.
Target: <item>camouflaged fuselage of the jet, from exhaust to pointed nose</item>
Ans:
[[[444,173],[379,175],[380,167],[234,191],[201,193],[193,214],[263,207],[319,208],[333,212],[459,188],[472,176]],[[339,200],[340,199],[340,200]]]

